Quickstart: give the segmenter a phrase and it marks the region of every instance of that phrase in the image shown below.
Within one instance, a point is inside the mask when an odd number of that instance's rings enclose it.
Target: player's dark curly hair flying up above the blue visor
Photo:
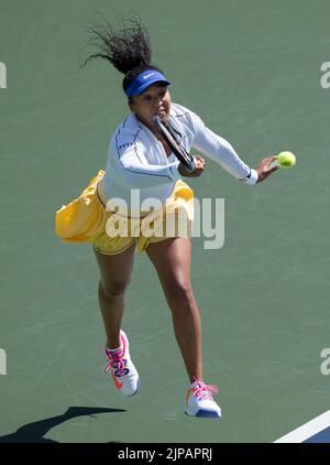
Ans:
[[[163,73],[157,66],[151,64],[150,35],[139,17],[123,20],[122,30],[119,32],[116,32],[108,21],[105,25],[90,26],[88,32],[91,34],[89,43],[97,45],[99,52],[89,55],[81,66],[86,66],[92,58],[109,61],[124,74],[122,82],[124,91],[134,78],[146,69]]]

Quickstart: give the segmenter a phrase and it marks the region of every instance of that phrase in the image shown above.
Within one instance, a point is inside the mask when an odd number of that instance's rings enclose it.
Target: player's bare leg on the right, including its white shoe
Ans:
[[[202,381],[200,317],[190,282],[190,240],[170,238],[150,244],[146,253],[158,273],[170,307],[175,335],[190,379],[186,413],[220,418],[221,409],[212,398],[212,392],[218,389]]]

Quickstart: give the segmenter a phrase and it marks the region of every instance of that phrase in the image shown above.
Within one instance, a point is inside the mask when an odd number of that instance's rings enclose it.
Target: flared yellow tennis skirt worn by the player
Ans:
[[[107,198],[99,182],[100,170],[80,196],[56,212],[55,234],[64,242],[91,244],[105,255],[117,255],[136,242],[138,253],[150,244],[169,237],[190,237],[194,220],[194,191],[177,181],[170,197],[162,208],[141,218],[107,212]]]

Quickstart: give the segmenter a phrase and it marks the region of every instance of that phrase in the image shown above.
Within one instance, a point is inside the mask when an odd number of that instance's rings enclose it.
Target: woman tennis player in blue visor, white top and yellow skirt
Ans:
[[[155,128],[153,117],[160,115],[163,122],[170,122],[188,152],[194,147],[248,185],[263,182],[277,170],[275,166],[267,171],[274,156],[263,159],[255,170],[249,167],[231,144],[208,129],[197,115],[172,102],[170,83],[152,64],[148,33],[140,19],[124,23],[121,31],[107,24],[94,26],[91,33],[99,50],[86,63],[100,57],[124,74],[123,91],[130,112],[111,137],[106,170],[99,171],[78,198],[56,213],[56,235],[65,242],[88,242],[94,247],[100,269],[98,296],[107,335],[106,371],[111,374],[118,390],[124,396],[133,396],[140,388],[122,317],[135,251],[145,251],[172,311],[175,336],[190,382],[185,411],[191,417],[220,418],[220,407],[212,398],[218,389],[208,386],[202,376],[200,316],[190,282],[194,192],[183,181],[183,177],[200,176],[205,159],[195,155],[195,171],[186,171]],[[133,190],[140,193],[139,207],[132,202]],[[121,198],[128,205],[129,216],[124,224],[130,231],[128,235],[114,237],[107,233],[107,224],[116,215],[108,207],[113,198]],[[136,234],[136,221],[141,226],[150,214],[141,208],[148,198],[156,198],[164,205],[163,225],[177,219],[178,213],[184,210],[186,234],[144,235],[143,228],[138,228]]]

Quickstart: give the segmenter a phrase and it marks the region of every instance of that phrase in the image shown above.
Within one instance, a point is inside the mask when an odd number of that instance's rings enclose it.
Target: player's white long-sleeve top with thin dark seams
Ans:
[[[172,104],[169,122],[188,152],[194,147],[238,180],[246,181],[250,176],[248,183],[255,184],[255,170],[251,170],[231,144],[208,129],[193,111]],[[150,197],[164,203],[170,196],[175,182],[182,179],[178,164],[173,153],[166,155],[162,142],[153,132],[130,113],[110,140],[101,187],[108,199],[123,199],[133,215],[132,190],[140,190],[141,203]]]

